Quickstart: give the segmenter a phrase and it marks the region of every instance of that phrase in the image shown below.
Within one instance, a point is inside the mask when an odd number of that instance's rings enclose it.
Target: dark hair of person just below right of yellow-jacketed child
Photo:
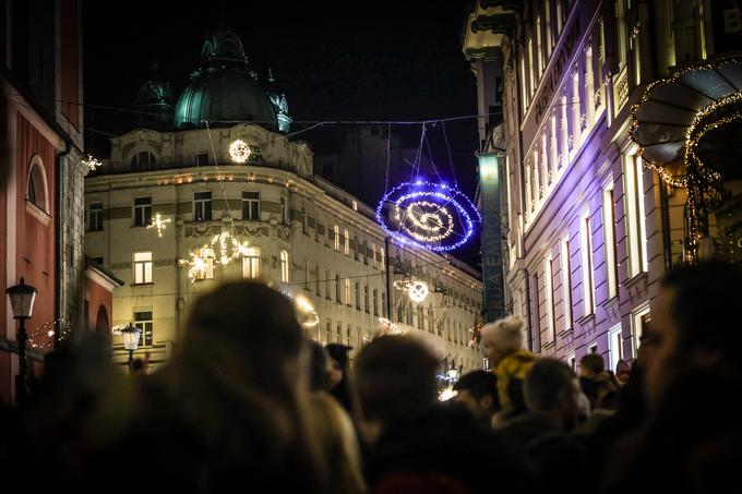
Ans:
[[[523,394],[532,411],[549,411],[559,396],[573,387],[575,372],[555,359],[538,359],[526,374]]]

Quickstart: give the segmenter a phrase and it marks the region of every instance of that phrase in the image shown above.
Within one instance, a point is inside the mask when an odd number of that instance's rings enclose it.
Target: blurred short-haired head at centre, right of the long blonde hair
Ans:
[[[440,359],[411,336],[375,338],[356,358],[355,382],[361,431],[373,443],[387,424],[421,412],[438,401]]]

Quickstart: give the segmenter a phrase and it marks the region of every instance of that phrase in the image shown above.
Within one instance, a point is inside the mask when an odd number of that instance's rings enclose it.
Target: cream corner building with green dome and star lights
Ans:
[[[256,84],[239,37],[210,35],[201,67],[216,59],[216,70],[192,77],[169,130],[111,138],[110,157],[86,180],[87,255],[125,282],[113,293],[112,323],[140,326],[140,352],[156,366],[177,345],[199,293],[262,278],[311,302],[319,320],[307,332],[322,344],[357,351],[397,328],[419,334],[462,371],[480,368],[478,349],[468,346],[481,312],[476,273],[395,244],[372,208],[315,176],[309,145],[280,133],[290,122],[285,96]],[[227,109],[228,101],[239,105]],[[231,158],[236,140],[250,148],[246,162]],[[165,228],[147,228],[157,217]],[[222,263],[214,254],[192,270],[191,253],[223,232],[244,244],[237,258]],[[395,288],[406,279],[428,284],[422,302]],[[120,338],[113,349],[124,361]]]

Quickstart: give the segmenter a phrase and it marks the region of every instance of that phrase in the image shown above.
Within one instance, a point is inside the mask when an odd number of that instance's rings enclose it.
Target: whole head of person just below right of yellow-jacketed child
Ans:
[[[547,417],[560,427],[574,427],[579,415],[579,384],[574,371],[555,359],[539,359],[523,386],[528,410]]]

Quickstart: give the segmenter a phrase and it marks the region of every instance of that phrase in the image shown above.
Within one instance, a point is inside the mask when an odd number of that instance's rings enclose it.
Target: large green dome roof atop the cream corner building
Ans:
[[[240,37],[224,28],[206,36],[201,63],[178,100],[173,123],[176,129],[203,128],[204,120],[211,126],[248,121],[278,130],[268,95],[248,71]]]

